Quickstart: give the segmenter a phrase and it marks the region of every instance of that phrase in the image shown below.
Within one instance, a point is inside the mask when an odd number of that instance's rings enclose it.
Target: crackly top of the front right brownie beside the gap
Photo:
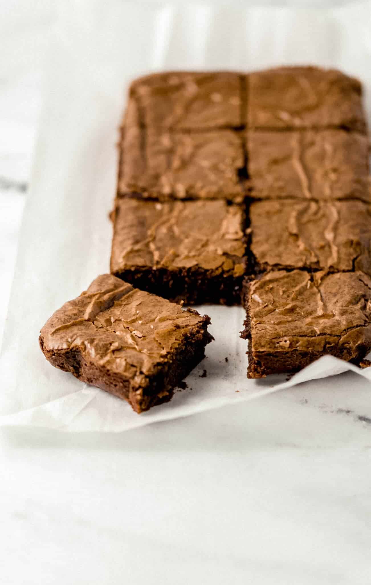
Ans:
[[[371,278],[362,272],[272,271],[249,285],[251,349],[371,347]]]

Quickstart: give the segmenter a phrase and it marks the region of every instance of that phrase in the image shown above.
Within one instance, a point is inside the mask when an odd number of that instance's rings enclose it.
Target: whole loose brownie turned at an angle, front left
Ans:
[[[202,360],[210,319],[103,274],[40,332],[53,366],[124,398],[135,412],[170,400]]]

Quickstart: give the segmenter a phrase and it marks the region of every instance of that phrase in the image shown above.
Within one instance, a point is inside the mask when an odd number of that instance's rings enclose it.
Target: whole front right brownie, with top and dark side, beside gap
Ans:
[[[326,353],[359,363],[371,349],[371,278],[361,271],[277,270],[244,287],[249,378],[297,371]]]

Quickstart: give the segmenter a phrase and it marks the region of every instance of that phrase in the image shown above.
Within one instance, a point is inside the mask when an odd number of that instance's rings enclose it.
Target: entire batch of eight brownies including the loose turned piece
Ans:
[[[325,353],[365,357],[371,191],[358,80],[318,67],[148,75],[129,88],[119,154],[112,276],[44,326],[51,363],[137,412],[169,400],[211,339],[207,316],[169,301],[242,302],[248,377]]]

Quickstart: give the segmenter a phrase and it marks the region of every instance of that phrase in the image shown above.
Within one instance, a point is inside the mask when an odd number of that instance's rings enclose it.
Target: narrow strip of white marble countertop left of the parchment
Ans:
[[[0,6],[0,343],[8,305],[17,236],[42,101],[47,35],[54,3]]]

